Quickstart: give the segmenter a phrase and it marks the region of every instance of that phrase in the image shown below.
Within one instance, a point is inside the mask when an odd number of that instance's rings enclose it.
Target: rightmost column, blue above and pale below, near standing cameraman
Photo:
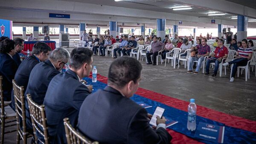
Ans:
[[[247,39],[247,17],[237,16],[237,41]]]

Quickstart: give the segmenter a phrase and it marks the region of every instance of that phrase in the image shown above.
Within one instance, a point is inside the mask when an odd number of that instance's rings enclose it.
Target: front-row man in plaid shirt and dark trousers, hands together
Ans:
[[[153,43],[151,44],[151,52],[146,53],[147,64],[152,64],[150,56],[153,58],[153,65],[157,65],[158,52],[164,48],[164,43],[157,41],[157,37],[153,37]]]

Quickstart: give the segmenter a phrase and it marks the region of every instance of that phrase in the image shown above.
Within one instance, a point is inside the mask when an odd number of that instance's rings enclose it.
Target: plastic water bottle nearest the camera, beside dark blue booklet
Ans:
[[[196,105],[195,105],[195,99],[190,99],[190,104],[188,106],[188,122],[187,122],[187,128],[188,130],[194,131],[196,128]]]

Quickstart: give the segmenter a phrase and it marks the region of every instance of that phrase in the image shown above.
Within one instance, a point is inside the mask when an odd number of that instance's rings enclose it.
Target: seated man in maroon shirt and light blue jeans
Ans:
[[[198,60],[198,65],[196,66],[194,74],[197,75],[200,68],[201,64],[204,61],[204,57],[208,56],[211,52],[210,46],[207,45],[207,39],[203,38],[201,41],[202,44],[199,44],[195,47],[191,48],[191,51],[198,50],[198,54],[195,57],[190,57],[189,58],[189,71],[187,73],[192,73],[193,72],[193,64],[195,60]]]

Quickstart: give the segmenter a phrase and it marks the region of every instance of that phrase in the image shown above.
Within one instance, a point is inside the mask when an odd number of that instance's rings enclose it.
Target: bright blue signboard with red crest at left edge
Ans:
[[[0,19],[0,37],[5,36],[12,39],[12,21]]]

